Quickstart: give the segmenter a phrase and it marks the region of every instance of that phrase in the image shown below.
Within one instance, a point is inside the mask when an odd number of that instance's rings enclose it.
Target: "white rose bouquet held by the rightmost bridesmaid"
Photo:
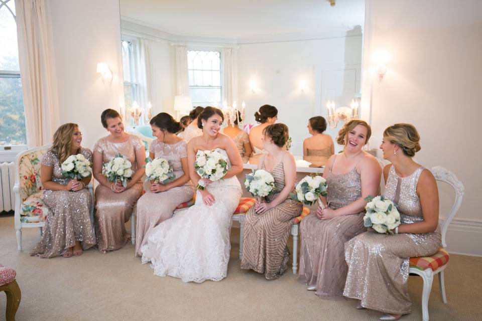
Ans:
[[[378,233],[393,234],[393,229],[400,225],[400,213],[395,204],[384,196],[368,196],[363,218],[365,227],[371,227]]]

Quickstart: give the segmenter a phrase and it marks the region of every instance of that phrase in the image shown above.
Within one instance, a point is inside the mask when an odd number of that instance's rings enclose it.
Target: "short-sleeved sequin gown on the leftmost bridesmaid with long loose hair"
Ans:
[[[92,152],[81,148],[80,153],[92,163]],[[42,158],[42,165],[52,167],[52,182],[67,185],[69,178],[62,176],[57,154],[48,151]],[[80,241],[84,250],[95,245],[95,234],[90,221],[92,206],[89,191],[84,188],[77,192],[45,190],[43,201],[50,209],[40,242],[30,255],[54,257]]]

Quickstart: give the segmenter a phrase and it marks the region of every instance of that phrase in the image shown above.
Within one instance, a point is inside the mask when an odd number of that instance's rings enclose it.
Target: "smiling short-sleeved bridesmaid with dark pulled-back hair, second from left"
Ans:
[[[125,223],[131,217],[134,205],[142,193],[141,177],[144,175],[146,151],[138,137],[124,131],[121,116],[113,109],[102,112],[100,120],[109,135],[94,145],[94,178],[100,183],[95,189],[95,228],[97,245],[101,253],[122,248],[130,239]],[[102,175],[102,164],[120,153],[132,163],[134,175],[127,187],[107,181]]]

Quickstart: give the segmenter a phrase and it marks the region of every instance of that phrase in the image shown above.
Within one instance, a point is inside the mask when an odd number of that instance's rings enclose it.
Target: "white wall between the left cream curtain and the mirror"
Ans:
[[[51,0],[47,4],[60,124],[78,123],[82,145],[92,148],[106,134],[100,113],[105,108],[118,109],[123,95],[119,4],[117,0]],[[96,73],[98,62],[112,70],[111,87],[104,88]]]

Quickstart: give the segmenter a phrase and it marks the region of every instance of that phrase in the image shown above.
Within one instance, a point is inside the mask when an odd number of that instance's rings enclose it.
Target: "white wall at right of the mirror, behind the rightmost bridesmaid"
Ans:
[[[383,80],[365,79],[372,88],[362,89],[365,97],[373,90],[372,146],[378,147],[387,126],[414,124],[422,146],[416,161],[449,169],[465,186],[449,250],[482,255],[482,2],[368,0],[366,13],[364,66],[373,66],[376,50],[389,54]],[[443,217],[448,193],[440,195]]]

